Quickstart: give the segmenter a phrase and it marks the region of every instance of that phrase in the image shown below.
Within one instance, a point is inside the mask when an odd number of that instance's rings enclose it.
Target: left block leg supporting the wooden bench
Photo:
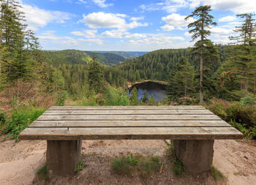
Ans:
[[[74,175],[80,160],[81,146],[81,140],[48,140],[48,172],[58,176]]]

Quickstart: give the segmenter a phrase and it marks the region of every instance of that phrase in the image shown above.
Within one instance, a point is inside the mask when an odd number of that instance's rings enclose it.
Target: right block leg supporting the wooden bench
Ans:
[[[176,156],[189,173],[211,170],[214,140],[173,140]]]

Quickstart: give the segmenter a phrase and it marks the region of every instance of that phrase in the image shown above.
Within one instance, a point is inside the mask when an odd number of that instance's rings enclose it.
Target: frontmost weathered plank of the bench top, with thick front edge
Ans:
[[[225,140],[241,139],[233,127],[27,128],[20,140]]]

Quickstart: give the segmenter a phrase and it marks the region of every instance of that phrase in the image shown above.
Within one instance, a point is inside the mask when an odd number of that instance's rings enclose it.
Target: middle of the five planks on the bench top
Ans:
[[[37,120],[221,120],[216,115],[42,115]]]

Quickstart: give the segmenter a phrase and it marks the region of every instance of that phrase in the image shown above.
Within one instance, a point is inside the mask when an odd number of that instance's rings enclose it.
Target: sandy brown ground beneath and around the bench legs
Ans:
[[[216,140],[214,166],[226,177],[215,181],[211,173],[177,177],[166,159],[163,140],[83,140],[84,169],[74,177],[50,178],[45,182],[35,173],[45,164],[45,141],[0,141],[0,184],[256,184],[256,148],[235,140]],[[165,163],[161,174],[146,179],[139,175],[117,175],[110,168],[116,156],[138,153],[157,155]]]

